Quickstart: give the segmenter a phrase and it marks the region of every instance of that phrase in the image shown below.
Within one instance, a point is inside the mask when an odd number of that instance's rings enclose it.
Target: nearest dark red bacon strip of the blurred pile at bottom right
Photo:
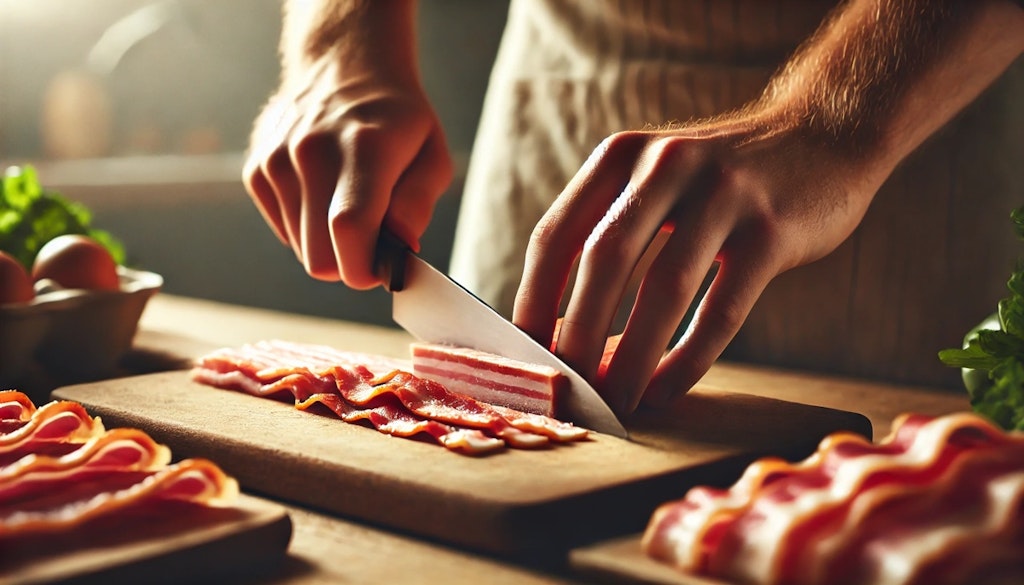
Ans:
[[[840,531],[808,541],[804,582],[857,575],[869,583],[970,583],[967,575],[950,577],[974,572],[977,560],[994,560],[1008,547],[1024,560],[1022,457],[1020,450],[985,450],[958,458],[931,485],[861,494]],[[949,562],[956,556],[959,562]]]

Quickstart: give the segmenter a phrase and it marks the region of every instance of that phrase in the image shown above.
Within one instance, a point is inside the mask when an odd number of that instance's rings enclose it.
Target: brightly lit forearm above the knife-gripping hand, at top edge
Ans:
[[[417,82],[416,0],[286,0],[281,36],[282,83],[324,58],[341,75],[373,70]]]

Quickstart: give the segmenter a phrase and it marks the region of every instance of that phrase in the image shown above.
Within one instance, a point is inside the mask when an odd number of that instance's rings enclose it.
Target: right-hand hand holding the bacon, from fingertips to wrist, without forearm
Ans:
[[[849,236],[880,181],[796,121],[767,113],[614,134],[535,229],[513,320],[549,342],[579,257],[557,353],[621,413],[642,398],[668,402],[707,372],[772,278]],[[630,276],[662,231],[664,246],[598,377]],[[693,323],[664,354],[716,261]]]

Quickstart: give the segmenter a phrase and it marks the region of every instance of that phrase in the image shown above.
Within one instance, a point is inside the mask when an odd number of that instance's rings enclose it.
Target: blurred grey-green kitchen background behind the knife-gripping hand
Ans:
[[[423,240],[445,270],[507,9],[420,4],[423,80],[457,164]],[[0,167],[36,166],[167,293],[392,325],[383,291],[306,276],[241,183],[280,32],[281,0],[0,0]]]

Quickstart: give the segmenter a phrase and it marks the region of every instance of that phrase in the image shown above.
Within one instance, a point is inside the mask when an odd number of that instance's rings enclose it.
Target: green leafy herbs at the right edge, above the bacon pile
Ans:
[[[1024,207],[1010,218],[1024,241]],[[964,369],[971,408],[1007,430],[1024,430],[1024,262],[1007,282],[997,320],[968,333],[963,349],[943,349],[939,360]]]

